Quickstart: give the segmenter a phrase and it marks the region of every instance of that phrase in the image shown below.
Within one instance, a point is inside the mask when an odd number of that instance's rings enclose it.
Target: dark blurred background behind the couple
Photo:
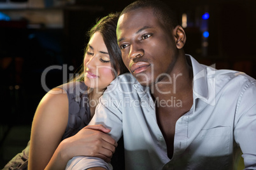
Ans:
[[[0,0],[0,7],[5,1],[10,0]],[[52,0],[44,2],[43,8],[0,9],[1,13],[45,14],[57,10],[63,17],[60,27],[47,27],[43,22],[36,23],[37,28],[30,27],[34,23],[29,18],[0,20],[0,168],[29,140],[32,117],[47,92],[41,85],[43,71],[52,65],[63,68],[48,72],[45,84],[49,89],[66,82],[63,74],[73,74],[82,64],[88,41],[85,34],[96,19],[122,11],[133,1],[76,0],[57,7]],[[215,64],[217,69],[239,70],[256,77],[255,0],[165,2],[176,11],[180,24],[182,14],[187,14],[186,53],[206,65]],[[205,12],[210,13],[208,20],[201,18]],[[208,38],[202,36],[204,30],[210,33]],[[64,70],[64,65],[74,69]]]

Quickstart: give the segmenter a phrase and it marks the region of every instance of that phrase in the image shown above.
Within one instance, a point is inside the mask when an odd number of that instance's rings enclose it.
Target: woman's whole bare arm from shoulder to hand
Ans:
[[[57,91],[61,93],[51,94]],[[87,126],[61,141],[67,124],[68,97],[62,89],[53,89],[41,100],[34,116],[29,169],[64,169],[68,160],[76,155],[110,162],[117,147],[115,140],[106,134],[110,129],[101,125]]]

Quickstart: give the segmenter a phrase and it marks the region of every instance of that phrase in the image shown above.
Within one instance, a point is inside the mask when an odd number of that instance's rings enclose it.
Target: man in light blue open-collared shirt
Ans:
[[[125,169],[234,169],[240,148],[256,169],[255,79],[185,55],[185,32],[159,1],[127,6],[117,41],[131,74],[111,83],[90,124],[123,134]],[[110,169],[94,157],[67,166],[90,167]]]

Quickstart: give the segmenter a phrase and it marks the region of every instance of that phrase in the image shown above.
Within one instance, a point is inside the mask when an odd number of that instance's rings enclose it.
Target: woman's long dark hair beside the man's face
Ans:
[[[107,16],[99,19],[89,30],[87,36],[89,39],[94,35],[95,32],[100,32],[101,36],[103,36],[103,41],[108,49],[108,54],[110,55],[110,63],[111,67],[113,68],[113,75],[117,77],[117,73],[124,74],[128,72],[127,67],[125,67],[124,62],[122,60],[122,55],[120,48],[117,44],[117,36],[116,36],[116,29],[117,29],[117,22],[120,13],[110,13]],[[89,40],[90,41],[90,40]],[[86,53],[88,46],[85,48],[84,53]],[[73,81],[83,81],[83,69],[84,65],[80,69],[80,74],[73,79]]]

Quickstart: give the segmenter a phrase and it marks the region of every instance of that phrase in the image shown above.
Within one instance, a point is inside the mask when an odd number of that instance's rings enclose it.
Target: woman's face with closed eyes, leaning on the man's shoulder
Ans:
[[[115,79],[110,63],[110,55],[100,32],[90,38],[83,61],[85,65],[85,84],[102,91]]]

